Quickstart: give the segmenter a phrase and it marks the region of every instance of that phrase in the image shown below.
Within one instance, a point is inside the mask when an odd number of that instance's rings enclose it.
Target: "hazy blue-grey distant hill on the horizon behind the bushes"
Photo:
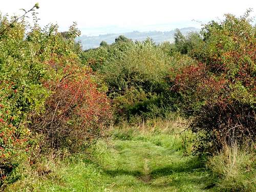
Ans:
[[[195,32],[200,31],[198,28],[194,27],[187,27],[180,29],[181,33],[186,34],[188,32]],[[131,38],[133,40],[145,40],[147,37],[152,38],[157,44],[163,41],[173,41],[174,40],[174,33],[175,30],[172,31],[149,31],[149,32],[127,32],[127,33],[110,33],[110,34],[104,34],[104,35],[98,35],[98,36],[87,36],[82,35],[78,37],[76,40],[81,41],[81,44],[83,46],[83,49],[91,49],[91,48],[97,48],[99,47],[99,44],[102,40],[108,42],[108,44],[112,44],[115,41],[115,38],[119,35],[124,35],[127,38]]]

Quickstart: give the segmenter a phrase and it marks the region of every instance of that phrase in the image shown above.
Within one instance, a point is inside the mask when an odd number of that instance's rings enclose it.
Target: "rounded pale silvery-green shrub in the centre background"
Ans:
[[[152,41],[145,41],[134,44],[120,59],[106,63],[100,72],[110,90],[135,87],[154,92],[162,88],[168,69],[168,57]]]

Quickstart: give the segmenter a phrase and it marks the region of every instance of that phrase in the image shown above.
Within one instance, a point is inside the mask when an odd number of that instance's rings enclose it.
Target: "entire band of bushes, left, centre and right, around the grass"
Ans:
[[[38,8],[38,5],[34,6]],[[25,11],[25,14],[34,11]],[[250,11],[175,33],[173,43],[119,36],[82,51],[76,25],[58,32],[0,17],[0,181],[49,150],[81,152],[114,118],[130,123],[178,113],[194,150],[255,142],[256,29]],[[191,137],[194,138],[194,137]]]

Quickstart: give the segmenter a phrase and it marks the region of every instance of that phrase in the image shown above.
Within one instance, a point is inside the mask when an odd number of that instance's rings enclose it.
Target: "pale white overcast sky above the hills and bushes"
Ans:
[[[98,35],[113,32],[168,31],[197,27],[225,13],[242,15],[252,8],[253,0],[0,0],[2,14],[20,15],[39,3],[39,24],[58,24],[60,31],[77,22],[82,34]]]

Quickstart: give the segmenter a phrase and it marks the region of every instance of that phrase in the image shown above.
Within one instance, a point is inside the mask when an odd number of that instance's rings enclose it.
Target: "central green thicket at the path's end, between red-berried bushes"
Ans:
[[[116,121],[139,118],[165,118],[178,110],[180,94],[170,92],[170,69],[190,65],[194,60],[179,52],[158,46],[150,38],[132,41],[118,37],[114,44],[81,54],[96,72],[101,87],[112,99]]]

